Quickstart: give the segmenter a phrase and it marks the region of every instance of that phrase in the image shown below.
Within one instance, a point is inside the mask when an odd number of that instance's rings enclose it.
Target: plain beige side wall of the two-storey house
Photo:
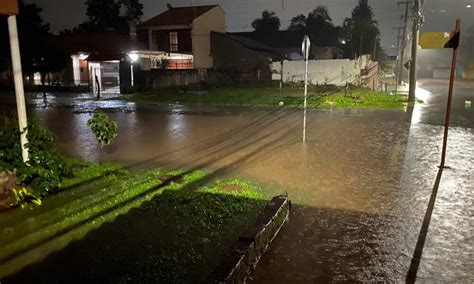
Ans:
[[[225,32],[225,14],[224,10],[219,6],[202,14],[192,24],[191,38],[194,68],[209,69],[213,67],[211,31]]]

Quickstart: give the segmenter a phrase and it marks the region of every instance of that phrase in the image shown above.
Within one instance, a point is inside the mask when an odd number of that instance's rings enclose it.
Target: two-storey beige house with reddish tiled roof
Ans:
[[[225,14],[219,5],[168,4],[168,10],[145,21],[140,29],[148,31],[148,50],[163,53],[151,58],[152,68],[166,62],[168,69],[209,69],[213,67],[211,32],[225,32]]]

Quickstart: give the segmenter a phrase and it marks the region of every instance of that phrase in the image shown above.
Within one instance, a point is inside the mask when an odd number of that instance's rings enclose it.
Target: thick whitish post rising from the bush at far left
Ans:
[[[18,42],[18,29],[16,16],[8,17],[8,33],[10,35],[10,50],[12,56],[13,78],[15,81],[16,107],[18,112],[18,125],[20,128],[20,142],[22,149],[23,162],[29,161],[27,139],[28,121],[26,118],[25,92],[23,89],[23,74],[21,71],[20,44]]]

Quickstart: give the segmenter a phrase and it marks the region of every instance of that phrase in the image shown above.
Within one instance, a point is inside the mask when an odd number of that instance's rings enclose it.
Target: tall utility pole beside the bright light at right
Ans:
[[[423,24],[420,0],[414,1],[415,5],[413,7],[413,31],[411,40],[410,88],[408,93],[408,102],[410,103],[415,102],[418,37],[420,34],[420,27]]]

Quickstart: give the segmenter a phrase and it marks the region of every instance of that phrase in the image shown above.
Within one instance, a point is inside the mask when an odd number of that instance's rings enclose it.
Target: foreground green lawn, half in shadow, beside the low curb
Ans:
[[[5,283],[205,281],[268,203],[253,183],[199,170],[75,176],[41,206],[0,214]]]

